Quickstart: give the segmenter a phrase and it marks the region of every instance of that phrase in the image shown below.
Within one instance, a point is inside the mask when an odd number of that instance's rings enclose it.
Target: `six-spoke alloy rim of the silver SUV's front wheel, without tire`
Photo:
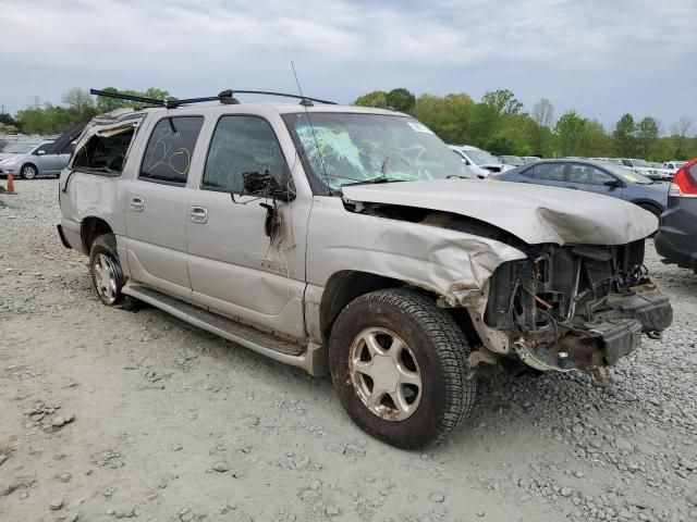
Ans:
[[[380,419],[404,421],[418,408],[421,372],[412,349],[394,332],[360,332],[351,345],[348,373],[363,405]]]

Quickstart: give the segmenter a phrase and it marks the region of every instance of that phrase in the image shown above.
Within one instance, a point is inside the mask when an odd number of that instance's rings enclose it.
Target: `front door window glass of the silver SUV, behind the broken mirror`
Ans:
[[[279,183],[285,159],[276,133],[256,116],[222,116],[210,141],[201,188],[241,194],[244,174],[268,172]]]

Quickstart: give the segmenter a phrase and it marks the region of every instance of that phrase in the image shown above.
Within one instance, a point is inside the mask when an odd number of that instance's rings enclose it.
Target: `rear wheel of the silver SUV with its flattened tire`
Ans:
[[[99,300],[124,310],[134,310],[138,301],[121,293],[125,277],[117,253],[117,238],[113,234],[103,234],[94,240],[89,249],[89,271]]]

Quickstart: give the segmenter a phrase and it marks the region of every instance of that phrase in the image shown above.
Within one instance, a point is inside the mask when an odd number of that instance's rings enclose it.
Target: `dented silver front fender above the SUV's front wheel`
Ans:
[[[310,285],[323,288],[335,272],[362,271],[428,289],[451,307],[486,301],[496,269],[526,257],[487,237],[348,212],[331,197],[315,198],[308,235]]]

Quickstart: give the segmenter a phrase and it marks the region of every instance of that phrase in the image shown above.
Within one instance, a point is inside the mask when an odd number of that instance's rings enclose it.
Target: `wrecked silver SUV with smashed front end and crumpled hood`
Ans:
[[[61,239],[105,304],[330,373],[377,438],[442,439],[490,364],[600,376],[672,321],[643,264],[658,222],[634,204],[478,181],[398,112],[219,99],[91,121]]]

